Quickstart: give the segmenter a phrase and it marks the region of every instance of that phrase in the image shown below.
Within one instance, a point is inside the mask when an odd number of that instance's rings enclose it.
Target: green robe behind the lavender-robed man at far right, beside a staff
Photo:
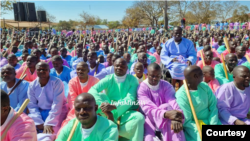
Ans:
[[[232,82],[234,80],[233,74],[230,73],[229,71],[227,71],[228,79],[226,78],[222,63],[215,65],[214,72],[215,72],[215,77],[219,81],[220,85]]]

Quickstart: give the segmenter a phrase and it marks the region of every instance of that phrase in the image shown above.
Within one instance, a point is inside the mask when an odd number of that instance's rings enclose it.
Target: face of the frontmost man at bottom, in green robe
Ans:
[[[76,100],[74,106],[76,118],[81,124],[90,124],[96,117],[98,106],[94,102]]]

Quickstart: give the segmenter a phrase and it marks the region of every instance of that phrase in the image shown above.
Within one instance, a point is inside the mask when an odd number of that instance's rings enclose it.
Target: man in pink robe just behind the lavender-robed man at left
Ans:
[[[26,65],[21,66],[17,70],[16,78],[20,79],[22,74],[26,74],[27,76],[24,78],[24,80],[26,80],[28,82],[32,82],[37,78],[37,73],[36,73],[36,64],[38,63],[37,57],[36,56],[28,56],[26,62],[27,62]]]

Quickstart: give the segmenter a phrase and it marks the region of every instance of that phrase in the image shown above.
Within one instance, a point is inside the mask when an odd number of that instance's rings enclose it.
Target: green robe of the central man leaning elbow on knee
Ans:
[[[131,141],[143,141],[144,135],[144,116],[137,112],[137,87],[139,83],[137,79],[127,74],[126,79],[122,83],[118,83],[115,74],[107,75],[94,85],[88,93],[95,97],[99,106],[97,113],[105,116],[101,109],[101,103],[106,102],[116,104],[115,110],[112,110],[114,121],[117,123],[120,117],[119,135]],[[106,94],[101,93],[105,90]],[[134,104],[131,104],[134,103]],[[119,138],[121,140],[121,138]]]

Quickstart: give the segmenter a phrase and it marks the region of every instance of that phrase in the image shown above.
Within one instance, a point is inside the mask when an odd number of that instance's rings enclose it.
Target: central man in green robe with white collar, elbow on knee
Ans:
[[[93,86],[92,94],[99,106],[97,113],[114,120],[119,128],[119,141],[142,141],[144,135],[144,116],[137,112],[137,79],[126,74],[126,60],[119,58],[114,62],[114,74],[107,75]],[[105,90],[105,94],[101,92]],[[110,112],[113,116],[110,116]],[[111,118],[110,118],[111,117]]]

